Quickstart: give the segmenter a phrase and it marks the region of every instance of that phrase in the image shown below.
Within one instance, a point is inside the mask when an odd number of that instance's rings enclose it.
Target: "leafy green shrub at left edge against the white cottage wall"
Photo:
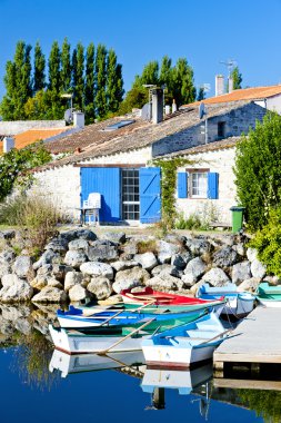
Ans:
[[[32,144],[21,150],[12,149],[0,157],[0,200],[3,200],[17,183],[18,187],[26,189],[32,181],[29,169],[51,160],[51,155],[44,149],[42,142]]]

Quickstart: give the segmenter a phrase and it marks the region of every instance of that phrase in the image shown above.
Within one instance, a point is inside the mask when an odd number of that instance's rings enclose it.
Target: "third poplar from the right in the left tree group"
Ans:
[[[86,121],[94,121],[94,46],[91,42],[86,52],[84,112]]]

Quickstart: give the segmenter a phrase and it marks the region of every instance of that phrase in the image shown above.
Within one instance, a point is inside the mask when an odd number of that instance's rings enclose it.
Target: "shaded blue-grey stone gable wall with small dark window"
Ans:
[[[262,120],[265,112],[267,110],[263,107],[252,102],[233,109],[225,115],[209,118],[208,142],[218,141],[220,139],[218,137],[218,122],[225,122],[225,136],[223,138],[241,136],[242,132],[248,134],[250,127],[254,128],[255,121]],[[191,128],[175,132],[154,142],[152,156],[167,155],[204,144],[204,120],[202,120]]]

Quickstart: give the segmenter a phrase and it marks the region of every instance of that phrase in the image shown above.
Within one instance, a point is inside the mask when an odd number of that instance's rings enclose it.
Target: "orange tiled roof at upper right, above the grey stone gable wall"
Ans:
[[[223,94],[222,96],[210,97],[203,100],[205,105],[217,105],[221,102],[232,102],[232,101],[253,101],[253,100],[262,100],[264,98],[274,97],[281,95],[281,85],[271,86],[271,87],[255,87],[255,88],[244,88],[244,89],[235,89],[232,92]],[[195,101],[190,105],[181,106],[193,107],[198,106],[201,101]]]

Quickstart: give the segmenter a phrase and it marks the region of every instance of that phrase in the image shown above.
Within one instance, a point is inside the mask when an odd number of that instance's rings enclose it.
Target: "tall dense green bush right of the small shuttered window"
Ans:
[[[269,112],[249,137],[237,145],[235,185],[250,230],[268,223],[269,212],[281,199],[281,118]]]

